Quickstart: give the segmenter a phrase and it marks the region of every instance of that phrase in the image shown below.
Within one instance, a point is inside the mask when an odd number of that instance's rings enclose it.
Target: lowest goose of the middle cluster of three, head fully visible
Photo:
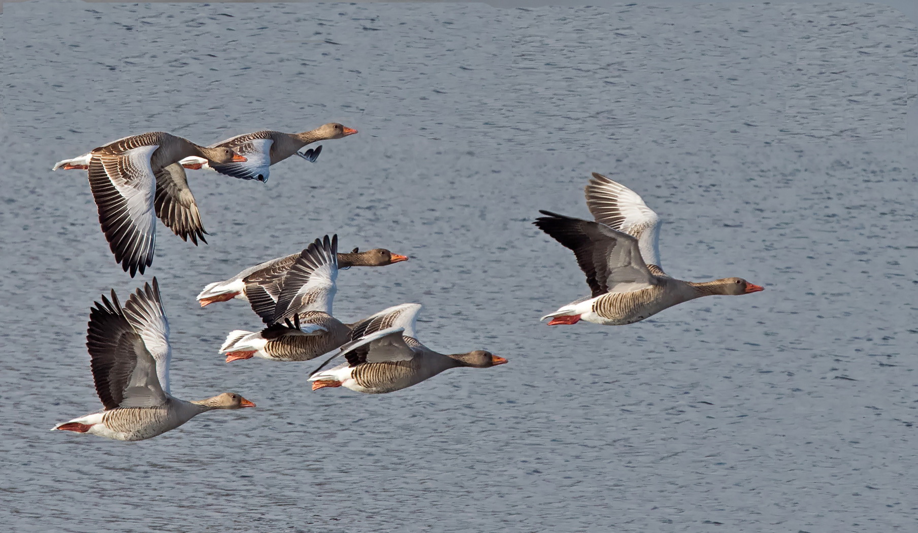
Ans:
[[[451,368],[489,368],[507,362],[485,350],[446,355],[427,348],[415,334],[420,307],[396,305],[354,324],[353,340],[309,374],[312,390],[343,386],[358,393],[386,394]],[[339,357],[347,362],[322,370]]]

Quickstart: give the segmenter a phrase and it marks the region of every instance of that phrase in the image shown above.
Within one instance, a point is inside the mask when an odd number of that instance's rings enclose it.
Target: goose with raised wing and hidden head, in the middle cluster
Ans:
[[[351,328],[331,316],[338,277],[338,236],[316,239],[274,283],[249,283],[252,310],[268,328],[230,331],[220,347],[226,361],[259,357],[309,361],[340,347]],[[291,322],[292,320],[292,322]]]

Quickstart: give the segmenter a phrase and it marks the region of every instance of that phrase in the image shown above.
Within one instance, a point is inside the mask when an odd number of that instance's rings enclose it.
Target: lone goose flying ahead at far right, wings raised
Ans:
[[[596,172],[586,194],[596,221],[540,211],[547,217],[533,222],[565,248],[574,250],[592,291],[589,297],[543,316],[543,320],[552,318],[549,326],[580,320],[621,326],[701,296],[764,290],[743,278],[693,283],[670,277],[660,268],[660,218],[641,196]]]

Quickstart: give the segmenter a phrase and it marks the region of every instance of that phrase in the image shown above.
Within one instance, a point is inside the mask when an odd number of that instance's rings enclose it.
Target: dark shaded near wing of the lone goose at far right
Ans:
[[[657,283],[641,258],[637,239],[592,220],[540,211],[533,222],[574,251],[592,296],[643,289]]]

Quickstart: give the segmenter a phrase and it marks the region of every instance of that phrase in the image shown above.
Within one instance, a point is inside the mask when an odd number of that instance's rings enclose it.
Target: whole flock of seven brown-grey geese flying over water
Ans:
[[[331,123],[303,133],[257,131],[204,147],[169,133],[150,132],[59,161],[53,170],[87,171],[109,248],[133,277],[152,264],[157,217],[182,239],[195,245],[198,240],[207,242],[185,169],[206,168],[265,182],[271,165],[294,154],[315,162],[321,146],[300,151],[308,144],[355,133],[353,128]],[[660,218],[641,196],[598,173],[593,173],[586,194],[594,220],[541,211],[544,217],[533,222],[574,251],[590,289],[589,296],[543,316],[551,318],[548,325],[580,320],[632,324],[701,296],[763,290],[743,278],[693,283],[667,275],[660,267]],[[309,374],[314,391],[343,386],[359,393],[385,394],[449,369],[506,363],[486,350],[443,354],[421,344],[415,332],[420,304],[395,305],[353,323],[333,316],[339,270],[408,259],[385,249],[341,253],[338,236],[326,235],[297,253],[208,284],[197,300],[202,307],[244,300],[263,320],[265,327],[259,331],[229,332],[219,349],[227,362],[253,357],[309,361],[334,351]],[[101,299],[90,309],[86,348],[104,408],[52,430],[142,440],[178,428],[205,411],[255,406],[235,393],[192,401],[171,394],[169,322],[155,277],[130,294],[124,305],[114,290],[110,299],[105,295]],[[339,364],[330,366],[333,362]]]

